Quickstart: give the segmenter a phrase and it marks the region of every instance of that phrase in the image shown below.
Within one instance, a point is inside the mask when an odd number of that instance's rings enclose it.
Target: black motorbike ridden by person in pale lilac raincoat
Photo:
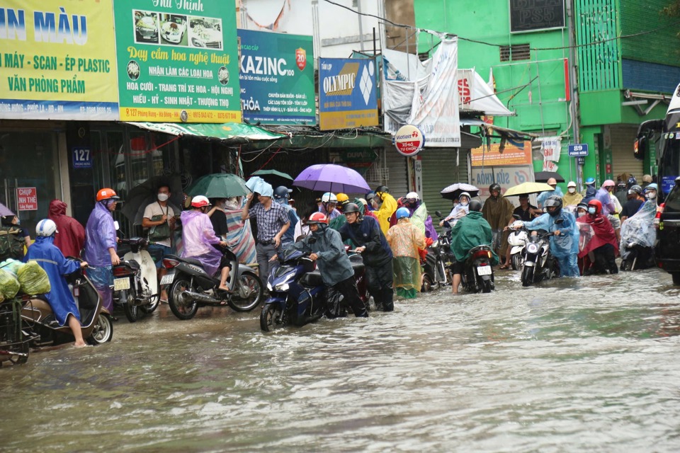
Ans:
[[[220,290],[219,277],[205,272],[199,260],[175,255],[163,259],[168,273],[162,277],[161,286],[169,285],[168,304],[177,318],[192,319],[201,306],[227,304],[234,311],[251,311],[259,305],[264,294],[260,277],[252,268],[239,263],[232,251],[225,249],[223,253],[231,264],[231,292]]]

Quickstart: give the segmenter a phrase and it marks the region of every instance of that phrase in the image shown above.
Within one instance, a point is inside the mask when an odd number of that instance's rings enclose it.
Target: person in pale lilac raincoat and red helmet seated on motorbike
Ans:
[[[215,236],[212,229],[208,211],[210,201],[203,195],[197,195],[191,199],[191,209],[183,211],[181,214],[182,240],[184,250],[182,258],[193,258],[203,263],[203,269],[208,275],[215,275],[217,270],[220,272],[220,289],[229,292],[227,278],[231,270],[229,258],[214,246],[226,247],[227,242]],[[226,302],[225,302],[226,303]]]

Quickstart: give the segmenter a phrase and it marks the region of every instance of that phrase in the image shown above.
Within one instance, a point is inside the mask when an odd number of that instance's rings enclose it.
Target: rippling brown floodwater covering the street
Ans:
[[[0,369],[11,452],[672,452],[680,288],[660,270],[263,334],[259,311],[166,305],[107,345]]]

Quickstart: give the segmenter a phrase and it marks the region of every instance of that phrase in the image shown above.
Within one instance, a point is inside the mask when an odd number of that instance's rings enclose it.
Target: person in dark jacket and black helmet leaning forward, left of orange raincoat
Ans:
[[[378,221],[372,217],[363,217],[355,203],[347,203],[343,211],[347,223],[341,226],[340,236],[344,241],[351,240],[356,251],[361,253],[368,292],[373,296],[375,306],[382,311],[394,310],[392,249],[387,244]]]

